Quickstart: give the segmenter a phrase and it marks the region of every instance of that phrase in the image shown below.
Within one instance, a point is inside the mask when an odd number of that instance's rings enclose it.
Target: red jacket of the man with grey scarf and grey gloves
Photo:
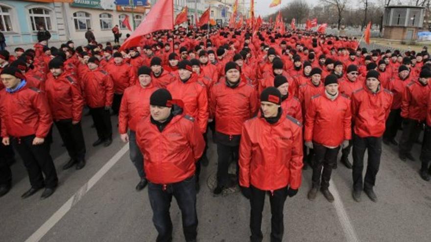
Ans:
[[[334,101],[325,93],[311,98],[305,116],[305,141],[337,147],[352,139],[352,113],[349,97],[338,94]]]

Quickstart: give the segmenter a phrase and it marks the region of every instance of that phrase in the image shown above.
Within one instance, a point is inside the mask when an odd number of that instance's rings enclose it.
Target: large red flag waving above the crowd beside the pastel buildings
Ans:
[[[173,0],[158,0],[144,21],[121,44],[120,50],[138,45],[141,38],[158,30],[173,29]]]

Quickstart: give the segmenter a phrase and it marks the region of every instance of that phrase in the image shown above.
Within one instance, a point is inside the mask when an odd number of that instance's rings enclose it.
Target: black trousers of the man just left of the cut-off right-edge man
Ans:
[[[410,153],[414,142],[416,142],[422,130],[422,123],[406,118],[403,122],[403,133],[399,143],[400,154]]]

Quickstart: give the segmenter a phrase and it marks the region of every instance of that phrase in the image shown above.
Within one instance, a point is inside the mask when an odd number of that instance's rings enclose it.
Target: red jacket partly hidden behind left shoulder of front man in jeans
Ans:
[[[139,121],[150,114],[150,96],[157,89],[152,83],[145,88],[138,83],[124,90],[118,115],[120,133],[126,133],[127,128],[136,131]]]

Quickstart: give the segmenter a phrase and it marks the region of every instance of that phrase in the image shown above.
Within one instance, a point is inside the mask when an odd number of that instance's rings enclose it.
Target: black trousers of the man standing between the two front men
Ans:
[[[229,164],[232,156],[238,157],[239,146],[227,146],[217,143],[217,184],[227,186],[229,184]],[[237,161],[237,177],[239,174],[239,165]]]

